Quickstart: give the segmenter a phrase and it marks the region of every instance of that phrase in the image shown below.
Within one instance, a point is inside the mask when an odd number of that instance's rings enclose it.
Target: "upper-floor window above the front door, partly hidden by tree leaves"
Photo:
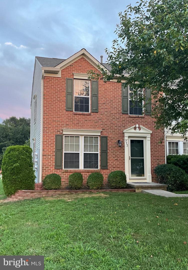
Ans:
[[[139,97],[143,96],[143,90],[135,90],[129,87],[129,114],[142,115],[143,112],[143,101],[138,100]]]

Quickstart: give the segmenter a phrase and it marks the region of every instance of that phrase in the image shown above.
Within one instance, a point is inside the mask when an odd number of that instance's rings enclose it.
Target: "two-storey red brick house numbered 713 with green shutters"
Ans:
[[[142,104],[132,104],[132,89],[117,78],[88,80],[88,70],[98,72],[98,65],[110,69],[85,49],[68,59],[35,58],[31,147],[37,182],[57,173],[65,187],[71,173],[81,172],[85,184],[100,171],[105,184],[114,170],[125,171],[127,182],[151,182],[154,168],[165,163],[164,131],[155,130],[150,106],[143,112]]]

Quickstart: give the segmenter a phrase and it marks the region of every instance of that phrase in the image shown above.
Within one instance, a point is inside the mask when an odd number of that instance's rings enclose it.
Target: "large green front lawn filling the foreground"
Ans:
[[[187,209],[141,193],[1,201],[0,255],[44,255],[45,270],[185,270]]]

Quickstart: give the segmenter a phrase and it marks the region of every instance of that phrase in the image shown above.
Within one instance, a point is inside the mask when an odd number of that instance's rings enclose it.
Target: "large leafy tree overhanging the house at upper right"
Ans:
[[[90,71],[91,78],[151,88],[156,128],[175,125],[188,131],[188,3],[187,0],[140,0],[119,13],[112,50],[106,50],[111,71]],[[129,76],[126,76],[129,74]],[[136,83],[137,82],[137,83]],[[163,92],[163,94],[162,94]],[[141,97],[142,99],[144,97]],[[150,101],[151,102],[151,101]],[[145,104],[146,105],[146,104]]]

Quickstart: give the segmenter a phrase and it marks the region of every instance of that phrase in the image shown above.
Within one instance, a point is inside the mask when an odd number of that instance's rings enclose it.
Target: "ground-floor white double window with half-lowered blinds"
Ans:
[[[99,136],[64,136],[64,169],[99,169]]]

